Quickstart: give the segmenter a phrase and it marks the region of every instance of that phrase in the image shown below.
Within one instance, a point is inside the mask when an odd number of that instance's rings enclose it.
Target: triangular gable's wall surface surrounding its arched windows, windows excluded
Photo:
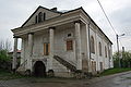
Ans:
[[[56,17],[56,16],[59,16],[61,14],[58,11],[52,11],[50,9],[46,9],[46,8],[39,5],[36,9],[36,11],[28,17],[28,20],[21,27],[36,24],[36,16],[38,16],[39,12],[45,13],[45,20],[49,20],[49,18]]]

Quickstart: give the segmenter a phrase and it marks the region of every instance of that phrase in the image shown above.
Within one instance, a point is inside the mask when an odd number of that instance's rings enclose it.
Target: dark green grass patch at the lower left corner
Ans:
[[[12,74],[7,70],[0,70],[0,80],[15,79],[15,78],[22,78],[22,77],[24,76],[19,74]]]

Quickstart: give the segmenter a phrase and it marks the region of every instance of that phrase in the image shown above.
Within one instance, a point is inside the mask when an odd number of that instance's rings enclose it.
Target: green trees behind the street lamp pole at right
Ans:
[[[115,52],[112,58],[115,67],[119,67],[118,52]],[[121,67],[131,67],[131,53],[128,51],[120,51],[120,63]]]

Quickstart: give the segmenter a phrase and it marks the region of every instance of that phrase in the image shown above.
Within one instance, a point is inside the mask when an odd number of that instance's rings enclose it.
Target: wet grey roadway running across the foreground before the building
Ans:
[[[0,80],[0,87],[131,87],[131,72],[93,79],[20,78]]]

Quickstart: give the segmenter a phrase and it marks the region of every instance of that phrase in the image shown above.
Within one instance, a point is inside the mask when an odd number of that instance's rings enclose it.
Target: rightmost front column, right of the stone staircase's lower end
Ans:
[[[80,22],[75,22],[75,54],[76,70],[82,70],[82,48],[81,48],[81,29]]]

